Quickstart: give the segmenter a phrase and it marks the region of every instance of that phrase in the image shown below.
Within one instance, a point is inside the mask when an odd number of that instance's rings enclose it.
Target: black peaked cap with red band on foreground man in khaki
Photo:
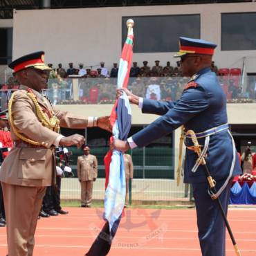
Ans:
[[[13,69],[14,72],[21,71],[25,68],[35,68],[43,71],[51,71],[52,68],[48,67],[44,63],[44,52],[39,51],[35,53],[30,53],[28,55],[24,55],[19,57],[19,59],[14,60],[8,65]]]

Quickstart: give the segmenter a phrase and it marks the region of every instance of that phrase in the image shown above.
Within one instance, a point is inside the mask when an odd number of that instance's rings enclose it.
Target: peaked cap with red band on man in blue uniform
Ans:
[[[213,55],[214,48],[217,44],[212,44],[203,39],[194,39],[188,37],[179,38],[180,49],[174,57],[181,57],[186,54],[202,54],[202,55]]]

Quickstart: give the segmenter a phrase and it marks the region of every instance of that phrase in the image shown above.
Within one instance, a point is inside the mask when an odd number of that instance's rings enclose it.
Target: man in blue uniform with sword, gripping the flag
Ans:
[[[235,143],[228,130],[226,96],[215,73],[210,70],[216,44],[201,39],[180,37],[183,75],[191,77],[185,84],[181,98],[176,102],[159,102],[138,98],[127,93],[131,103],[138,104],[143,113],[154,113],[156,119],[145,129],[127,141],[116,140],[112,147],[121,151],[144,147],[183,125],[184,131],[193,130],[206,152],[206,165],[217,182],[217,194],[224,211],[228,210],[228,199],[232,177],[241,173]],[[196,165],[198,156],[191,150],[192,141],[185,136],[185,183],[192,183],[196,204],[199,241],[203,256],[225,256],[225,223],[217,201],[208,193],[208,181],[203,165]]]

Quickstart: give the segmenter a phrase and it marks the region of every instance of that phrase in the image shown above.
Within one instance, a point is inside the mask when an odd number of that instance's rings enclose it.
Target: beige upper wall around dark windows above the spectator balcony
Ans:
[[[256,71],[256,51],[220,51],[221,12],[256,12],[256,3],[215,3],[179,6],[135,6],[61,10],[16,10],[14,13],[13,57],[31,51],[46,51],[46,62],[54,66],[68,62],[85,66],[105,61],[110,68],[120,57],[122,17],[138,15],[201,15],[201,38],[216,42],[214,60],[219,67],[241,67],[241,58],[250,56],[248,72]],[[136,36],[136,25],[134,27]],[[172,31],[170,31],[171,35]],[[177,39],[178,41],[178,39]],[[239,43],[239,42],[238,42]],[[173,53],[136,53],[134,61],[176,60]]]

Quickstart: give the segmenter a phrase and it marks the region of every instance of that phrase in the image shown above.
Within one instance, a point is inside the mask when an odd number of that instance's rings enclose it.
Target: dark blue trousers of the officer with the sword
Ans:
[[[217,181],[217,190],[225,180]],[[224,212],[227,214],[232,179],[219,196]],[[199,241],[203,256],[225,256],[226,226],[219,210],[217,200],[208,194],[208,183],[192,183],[196,204]]]

